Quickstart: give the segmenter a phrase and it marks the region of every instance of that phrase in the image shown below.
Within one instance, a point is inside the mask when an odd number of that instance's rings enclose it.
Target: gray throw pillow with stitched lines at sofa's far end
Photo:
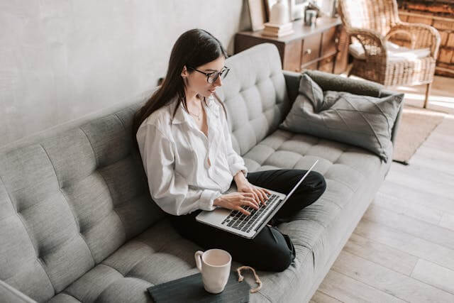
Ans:
[[[404,94],[383,98],[348,92],[323,94],[311,77],[302,75],[299,95],[279,127],[360,146],[387,162],[392,126],[403,99]]]

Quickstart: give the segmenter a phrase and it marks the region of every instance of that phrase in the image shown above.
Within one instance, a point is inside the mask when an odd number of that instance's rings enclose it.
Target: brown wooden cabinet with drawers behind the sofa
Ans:
[[[319,18],[314,28],[303,21],[293,22],[294,33],[279,38],[262,36],[262,31],[235,35],[235,53],[260,43],[273,43],[279,50],[283,70],[344,72],[347,67],[348,38],[339,18]]]

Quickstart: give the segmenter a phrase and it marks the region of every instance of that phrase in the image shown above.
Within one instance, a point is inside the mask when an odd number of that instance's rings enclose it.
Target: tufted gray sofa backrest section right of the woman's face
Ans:
[[[244,155],[284,120],[290,108],[287,87],[271,43],[229,57],[226,66],[231,71],[218,95],[226,106],[233,148]]]

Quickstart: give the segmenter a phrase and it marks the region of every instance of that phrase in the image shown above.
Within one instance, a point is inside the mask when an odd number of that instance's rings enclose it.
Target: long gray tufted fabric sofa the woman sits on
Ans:
[[[248,169],[306,169],[320,160],[315,170],[326,192],[279,225],[294,242],[295,262],[283,272],[258,272],[262,290],[250,294],[250,302],[309,301],[390,162],[278,128],[301,75],[282,72],[274,45],[245,50],[226,65],[231,73],[219,94]],[[314,77],[331,83],[331,75]],[[372,92],[387,94],[380,88]],[[0,302],[150,302],[147,287],[197,272],[200,248],[153,203],[133,148],[132,117],[142,104],[130,100],[0,150]]]

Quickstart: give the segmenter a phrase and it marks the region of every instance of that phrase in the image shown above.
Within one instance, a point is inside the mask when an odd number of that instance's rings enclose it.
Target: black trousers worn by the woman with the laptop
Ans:
[[[251,184],[287,194],[306,172],[306,170],[265,170],[250,172],[247,179]],[[205,250],[221,248],[227,250],[233,260],[251,266],[255,270],[279,272],[289,267],[296,253],[289,236],[282,234],[275,225],[291,221],[293,214],[314,203],[325,189],[326,182],[323,175],[310,172],[299,184],[292,197],[270,220],[271,226],[262,228],[262,231],[253,239],[236,236],[199,223],[195,217],[201,210],[182,216],[171,214],[167,216],[182,237],[193,241]]]

